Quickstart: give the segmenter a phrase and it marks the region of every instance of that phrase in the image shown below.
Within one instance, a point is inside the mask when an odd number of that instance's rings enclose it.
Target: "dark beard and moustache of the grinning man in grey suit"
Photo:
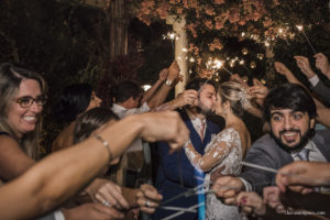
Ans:
[[[283,143],[280,136],[285,133],[285,132],[298,132],[299,136],[300,136],[300,142],[297,143],[296,145],[293,146],[288,146],[287,144]],[[292,153],[292,152],[297,152],[302,150],[306,144],[309,141],[309,136],[310,136],[310,128],[308,127],[308,130],[301,135],[300,130],[296,130],[296,129],[290,129],[290,130],[282,130],[279,132],[279,138],[275,136],[273,131],[271,131],[271,136],[274,139],[274,141],[277,143],[277,145],[283,148],[284,151]]]

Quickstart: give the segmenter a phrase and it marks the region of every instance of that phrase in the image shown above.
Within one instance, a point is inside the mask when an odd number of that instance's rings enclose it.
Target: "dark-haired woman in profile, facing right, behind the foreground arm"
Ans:
[[[73,84],[65,87],[56,105],[55,114],[66,125],[53,142],[52,152],[73,145],[76,119],[81,113],[100,107],[101,102],[89,84]]]

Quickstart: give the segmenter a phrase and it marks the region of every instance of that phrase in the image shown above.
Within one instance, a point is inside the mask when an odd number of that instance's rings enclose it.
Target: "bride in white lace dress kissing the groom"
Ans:
[[[241,162],[251,145],[250,133],[241,120],[244,109],[250,107],[248,95],[242,85],[227,81],[219,86],[213,110],[226,120],[226,128],[212,136],[205,148],[205,155],[195,151],[191,142],[186,143],[185,152],[195,168],[206,173],[207,189],[210,174],[223,168],[223,175],[239,175]],[[244,219],[238,207],[227,206],[217,199],[215,194],[207,194],[206,219],[208,220],[238,220]]]

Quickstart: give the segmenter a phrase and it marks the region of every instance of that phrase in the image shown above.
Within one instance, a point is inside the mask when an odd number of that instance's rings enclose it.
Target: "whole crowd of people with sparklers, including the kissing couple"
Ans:
[[[133,81],[113,87],[111,107],[89,84],[67,86],[54,109],[66,125],[43,160],[47,85],[2,64],[0,218],[330,218],[330,87],[307,57],[294,58],[310,88],[279,62],[274,68],[288,82],[275,88],[239,75],[221,84],[194,78],[167,102],[182,79],[176,62],[146,92]],[[315,58],[330,79],[328,58]],[[245,111],[264,122],[253,143]]]

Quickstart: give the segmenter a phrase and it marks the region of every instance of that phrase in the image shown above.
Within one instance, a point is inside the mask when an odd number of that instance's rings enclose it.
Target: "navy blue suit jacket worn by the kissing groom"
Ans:
[[[195,146],[196,151],[198,151],[200,154],[204,154],[206,145],[211,141],[211,134],[219,133],[220,129],[217,124],[207,120],[205,139],[201,142],[200,136],[194,129],[186,111],[182,111],[179,113],[190,131],[190,141],[193,142],[193,145]],[[185,151],[180,150],[177,153],[168,154],[169,146],[166,142],[158,142],[157,146],[161,162],[156,177],[156,188],[163,195],[163,201],[174,198],[175,196],[196,187],[198,183],[195,168],[187,158]],[[189,196],[175,199],[165,206],[188,208],[197,204],[197,196]],[[175,212],[176,211],[157,209],[153,219],[163,219],[164,217],[170,216]],[[186,212],[176,219],[197,219],[197,213]]]

